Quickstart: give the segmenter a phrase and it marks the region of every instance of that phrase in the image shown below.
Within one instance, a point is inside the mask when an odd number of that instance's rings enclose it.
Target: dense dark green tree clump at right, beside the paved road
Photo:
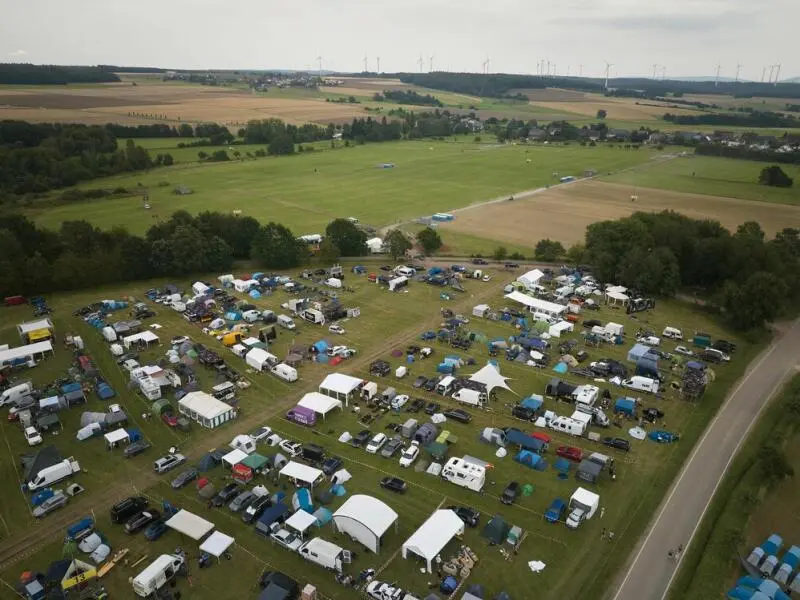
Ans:
[[[762,327],[800,302],[799,228],[767,239],[753,221],[732,234],[718,221],[634,213],[589,225],[579,260],[601,281],[641,293],[701,292],[740,330]]]

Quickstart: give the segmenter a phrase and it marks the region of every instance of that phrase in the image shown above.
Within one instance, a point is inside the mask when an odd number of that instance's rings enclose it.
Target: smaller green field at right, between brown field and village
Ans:
[[[776,188],[758,184],[761,169],[768,165],[733,158],[690,155],[657,165],[645,165],[635,171],[616,173],[605,179],[635,187],[800,204],[800,192],[796,187]],[[800,166],[781,165],[781,168],[789,177],[800,181]]]

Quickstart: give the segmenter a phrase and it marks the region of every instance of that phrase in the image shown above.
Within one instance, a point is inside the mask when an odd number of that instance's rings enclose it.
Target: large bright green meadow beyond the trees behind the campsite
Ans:
[[[151,210],[142,208],[138,198],[123,198],[34,209],[29,214],[51,228],[65,220],[87,219],[104,229],[125,225],[141,233],[179,209],[241,210],[262,222],[281,222],[301,235],[321,233],[337,217],[390,225],[539,188],[557,181],[553,173],[615,172],[659,154],[577,145],[496,146],[461,139],[463,143],[404,141],[328,147],[292,157],[177,165],[84,186],[141,184],[149,190]],[[381,168],[383,163],[394,168]],[[194,194],[174,195],[178,185],[192,188]]]

